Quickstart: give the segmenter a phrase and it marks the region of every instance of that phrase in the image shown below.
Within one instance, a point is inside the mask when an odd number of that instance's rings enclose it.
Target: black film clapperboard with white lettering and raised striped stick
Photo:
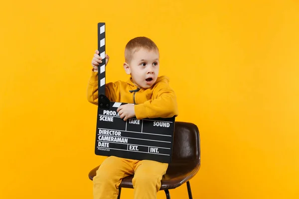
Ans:
[[[105,23],[98,23],[98,50],[103,62],[98,69],[95,154],[170,163],[175,117],[140,120],[135,117],[127,121],[120,118],[117,108],[126,103],[111,102],[105,96]]]

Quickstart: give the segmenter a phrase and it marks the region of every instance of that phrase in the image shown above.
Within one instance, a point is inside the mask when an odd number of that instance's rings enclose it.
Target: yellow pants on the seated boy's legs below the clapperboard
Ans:
[[[134,175],[134,199],[156,199],[168,164],[151,160],[131,160],[110,156],[93,178],[94,199],[117,199],[123,178]]]

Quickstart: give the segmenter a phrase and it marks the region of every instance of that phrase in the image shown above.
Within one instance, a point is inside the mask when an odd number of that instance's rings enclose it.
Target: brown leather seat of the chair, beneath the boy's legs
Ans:
[[[100,166],[94,168],[88,174],[90,180],[93,180],[93,177],[96,175],[96,171]],[[161,180],[160,190],[175,189],[185,182],[189,181],[197,171],[199,170],[199,162],[183,162],[183,163],[170,163],[166,174]],[[132,179],[134,176],[128,176],[122,180],[120,185],[121,188],[131,188],[133,189]]]

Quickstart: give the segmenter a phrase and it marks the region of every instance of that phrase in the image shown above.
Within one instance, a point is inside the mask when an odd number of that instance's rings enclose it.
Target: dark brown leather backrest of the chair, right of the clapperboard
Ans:
[[[199,130],[193,123],[176,121],[174,124],[172,162],[200,163]]]

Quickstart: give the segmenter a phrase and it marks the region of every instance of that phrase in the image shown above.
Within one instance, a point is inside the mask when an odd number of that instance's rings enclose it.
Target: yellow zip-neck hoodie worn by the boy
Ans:
[[[178,109],[176,96],[168,83],[169,78],[161,76],[151,88],[139,90],[130,78],[127,82],[106,84],[106,96],[110,101],[135,103],[137,119],[172,117],[178,114]],[[98,97],[98,72],[92,72],[87,87],[87,99],[98,105]]]

